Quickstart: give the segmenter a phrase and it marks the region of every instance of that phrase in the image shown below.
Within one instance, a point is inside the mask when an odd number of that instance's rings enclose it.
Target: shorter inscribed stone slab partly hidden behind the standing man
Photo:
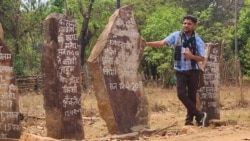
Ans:
[[[206,44],[207,58],[204,67],[204,86],[198,90],[201,110],[207,112],[206,125],[211,119],[220,119],[219,44]]]

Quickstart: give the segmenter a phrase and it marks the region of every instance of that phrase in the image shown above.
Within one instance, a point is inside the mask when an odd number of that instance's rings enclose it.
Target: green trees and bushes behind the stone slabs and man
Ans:
[[[161,40],[180,30],[182,17],[198,17],[196,32],[205,42],[221,48],[221,82],[238,82],[250,76],[250,0],[0,0],[0,22],[5,42],[14,56],[17,77],[40,74],[44,20],[63,13],[77,21],[83,72],[97,38],[113,12],[134,5],[139,33],[148,41]],[[146,48],[140,72],[145,80],[164,87],[173,75],[173,48]],[[88,73],[85,73],[86,75]],[[87,88],[89,76],[85,76]]]

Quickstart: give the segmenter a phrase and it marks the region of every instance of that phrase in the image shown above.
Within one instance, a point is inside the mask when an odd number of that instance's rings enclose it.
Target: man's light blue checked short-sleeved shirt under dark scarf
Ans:
[[[181,32],[182,31],[173,32],[165,38],[165,41],[167,42],[168,46],[170,46],[170,45],[174,45],[174,47],[176,46]],[[185,35],[183,35],[183,36],[185,36]],[[187,40],[190,37],[191,36],[186,35]],[[204,44],[204,42],[197,34],[195,34],[195,40],[196,40],[196,54],[195,55],[204,57],[205,56],[205,44]],[[183,41],[184,41],[184,39],[182,38],[182,42]],[[187,70],[192,70],[192,69],[198,69],[198,64],[196,63],[195,67],[192,67],[191,60],[185,59],[183,53],[181,53],[181,59],[174,61],[174,69],[177,71],[187,71]]]

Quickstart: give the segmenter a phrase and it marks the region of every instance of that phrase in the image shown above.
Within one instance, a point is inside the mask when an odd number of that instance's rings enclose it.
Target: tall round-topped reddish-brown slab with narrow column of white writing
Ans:
[[[42,77],[47,136],[83,139],[80,46],[76,22],[53,13],[45,20]]]

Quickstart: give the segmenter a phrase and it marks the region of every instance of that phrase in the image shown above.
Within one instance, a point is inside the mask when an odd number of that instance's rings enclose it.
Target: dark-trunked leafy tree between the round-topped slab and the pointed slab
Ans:
[[[67,10],[77,20],[81,45],[81,65],[91,52],[98,35],[104,29],[109,16],[115,11],[112,0],[67,0]]]

